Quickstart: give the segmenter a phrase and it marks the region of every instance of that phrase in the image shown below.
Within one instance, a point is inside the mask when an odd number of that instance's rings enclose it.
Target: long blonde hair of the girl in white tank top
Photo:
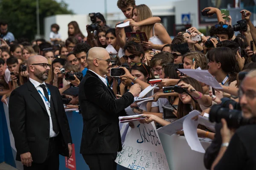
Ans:
[[[134,9],[137,9],[137,14],[138,14],[138,18],[139,18],[138,21],[142,21],[142,20],[152,17],[151,10],[145,4],[135,6],[133,8],[133,10]],[[147,38],[149,39],[151,37],[151,32],[152,32],[151,30],[153,27],[154,27],[154,24],[140,26],[140,32],[145,32]]]

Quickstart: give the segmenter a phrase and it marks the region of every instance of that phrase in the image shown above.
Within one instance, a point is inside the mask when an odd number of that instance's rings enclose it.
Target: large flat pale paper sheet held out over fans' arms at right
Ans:
[[[215,89],[222,89],[218,81],[212,77],[212,74],[208,70],[194,70],[194,69],[178,69],[180,72],[192,77],[199,82],[203,82],[209,86],[212,86]]]

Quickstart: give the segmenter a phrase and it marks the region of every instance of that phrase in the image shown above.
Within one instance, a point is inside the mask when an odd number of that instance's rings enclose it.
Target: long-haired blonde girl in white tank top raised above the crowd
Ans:
[[[132,19],[136,22],[152,17],[151,10],[145,4],[135,6]],[[140,32],[145,32],[148,42],[143,42],[143,46],[148,49],[161,50],[165,44],[171,44],[172,39],[166,29],[160,24],[140,26]]]

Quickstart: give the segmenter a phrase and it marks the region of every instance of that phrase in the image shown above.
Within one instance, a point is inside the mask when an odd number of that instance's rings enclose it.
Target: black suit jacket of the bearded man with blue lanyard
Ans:
[[[51,100],[56,111],[60,127],[59,153],[68,156],[68,143],[72,143],[70,127],[65,113],[60,92],[57,87],[46,84],[51,92]],[[49,146],[49,115],[48,108],[32,82],[12,91],[9,100],[10,127],[17,149],[16,160],[20,154],[30,152],[33,162],[43,163],[47,158]]]

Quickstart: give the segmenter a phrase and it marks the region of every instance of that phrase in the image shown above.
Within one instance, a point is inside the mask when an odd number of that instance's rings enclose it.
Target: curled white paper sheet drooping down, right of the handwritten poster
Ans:
[[[205,150],[198,139],[198,134],[197,134],[198,120],[192,120],[193,117],[200,114],[201,113],[196,110],[190,112],[183,122],[183,131],[184,131],[186,141],[188,142],[190,148],[197,152],[205,153]]]

